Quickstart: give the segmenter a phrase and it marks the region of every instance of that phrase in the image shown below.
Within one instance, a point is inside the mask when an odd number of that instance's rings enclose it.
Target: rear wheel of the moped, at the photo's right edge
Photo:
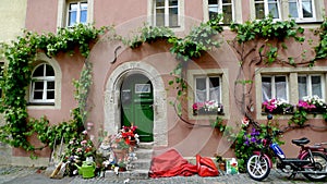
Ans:
[[[327,158],[322,152],[312,152],[315,164],[310,163],[304,165],[304,171],[323,171],[327,172]],[[303,160],[310,160],[311,156],[306,155]],[[311,181],[324,181],[327,177],[327,174],[307,174],[303,173],[303,175]]]

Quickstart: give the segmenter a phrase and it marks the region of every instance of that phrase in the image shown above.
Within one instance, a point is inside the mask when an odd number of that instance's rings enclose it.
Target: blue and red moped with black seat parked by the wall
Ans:
[[[268,122],[272,119],[271,114],[267,115]],[[290,172],[289,179],[295,177],[298,173],[302,173],[310,181],[324,181],[327,179],[327,155],[326,149],[322,145],[305,146],[310,139],[303,137],[292,139],[292,144],[300,147],[296,158],[286,158],[282,149],[274,138],[282,131],[267,132],[262,140],[263,149],[254,151],[246,162],[246,171],[251,179],[262,181],[266,179],[272,168],[271,157],[268,156],[268,150],[272,150],[272,157],[277,157],[277,169],[283,172]]]

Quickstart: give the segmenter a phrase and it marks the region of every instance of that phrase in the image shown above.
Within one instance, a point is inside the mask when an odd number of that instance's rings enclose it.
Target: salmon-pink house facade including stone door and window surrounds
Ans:
[[[65,0],[27,0],[25,28],[38,33],[56,33],[57,27],[65,24],[66,16],[62,15],[65,14],[69,2]],[[96,27],[114,25],[118,35],[131,38],[138,27],[144,26],[144,23],[154,24],[154,2],[153,0],[88,0],[87,22],[94,23]],[[244,23],[253,20],[255,14],[253,1],[235,0],[232,2],[235,22]],[[175,32],[175,35],[183,37],[189,34],[192,26],[207,21],[205,19],[208,8],[205,3],[208,1],[180,0],[178,3],[180,26],[172,28],[172,30]],[[283,1],[283,4],[286,3],[287,1]],[[310,29],[319,27],[319,23],[323,21],[322,15],[326,13],[326,9],[320,9],[318,5],[326,8],[327,1],[324,0],[324,2],[315,4],[316,21],[301,24],[305,27],[305,37],[312,39],[313,44],[310,45],[306,41],[301,45],[290,39],[287,41],[288,50],[279,53],[281,58],[299,58],[299,53],[303,50],[308,50],[305,53],[306,61],[314,58],[313,46],[317,45],[318,37]],[[218,38],[222,42],[220,48],[204,53],[199,59],[190,61],[187,65],[184,79],[187,82],[189,88],[185,95],[186,100],[182,101],[182,119],[178,115],[175,107],[171,106],[171,101],[175,101],[177,90],[169,85],[169,81],[173,79],[170,73],[179,63],[175,57],[170,53],[171,45],[165,40],[159,40],[131,49],[122,41],[106,39],[110,37],[109,34],[104,35],[93,46],[92,52],[86,59],[93,63],[93,85],[87,100],[87,122],[94,123],[90,134],[97,137],[101,130],[113,134],[121,127],[121,86],[124,79],[133,76],[133,74],[146,76],[153,86],[153,103],[150,106],[154,115],[155,149],[157,152],[161,152],[168,148],[175,148],[183,157],[194,157],[196,154],[206,157],[213,157],[215,154],[223,155],[223,157],[234,156],[231,143],[223,138],[228,135],[210,127],[210,122],[216,119],[216,115],[193,115],[192,113],[197,76],[219,76],[221,84],[220,102],[223,105],[223,113],[219,116],[223,119],[223,123],[234,130],[239,128],[245,112],[261,123],[266,122],[266,114],[262,112],[262,76],[287,75],[289,82],[288,100],[295,105],[299,100],[299,96],[294,95],[298,94],[298,75],[319,73],[324,82],[322,94],[326,99],[327,60],[319,60],[315,66],[310,69],[279,63],[268,65],[264,62],[253,62],[252,60],[257,57],[253,52],[243,60],[244,64],[241,70],[238,45],[230,41],[235,37],[235,34],[228,26],[225,26],[221,35]],[[245,50],[251,48],[251,45],[246,45]],[[70,110],[77,106],[73,97],[72,81],[80,77],[85,59],[77,52],[72,57],[60,53],[52,59],[40,54],[39,60],[48,62],[55,68],[56,74],[58,74],[56,77],[59,77],[57,87],[60,90],[56,93],[55,106],[28,106],[28,113],[33,118],[46,115],[51,124],[69,121],[71,118]],[[252,81],[252,83],[241,85],[238,83],[240,81]],[[296,83],[292,84],[292,82]],[[275,115],[275,120],[278,120],[281,127],[288,126],[291,114]],[[307,118],[310,119],[308,124],[316,127],[326,126],[322,114],[317,116],[310,114]],[[326,140],[326,128],[320,131],[310,127],[289,131],[283,135],[282,139],[286,144],[282,148],[286,155],[295,157],[298,148],[291,144],[292,138],[306,136],[312,143],[324,142]],[[46,149],[41,156],[48,157],[49,154],[49,149]],[[15,157],[26,156],[20,149],[15,149],[13,155]]]

